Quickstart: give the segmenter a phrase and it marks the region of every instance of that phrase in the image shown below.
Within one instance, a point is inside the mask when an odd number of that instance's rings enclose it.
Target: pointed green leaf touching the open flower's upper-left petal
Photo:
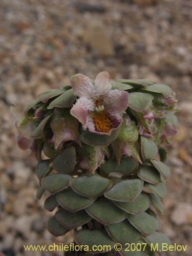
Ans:
[[[69,108],[73,105],[73,102],[75,101],[76,96],[74,94],[73,89],[70,89],[64,93],[62,93],[59,97],[54,99],[49,106],[47,107],[48,110],[53,109],[55,107],[57,108]]]

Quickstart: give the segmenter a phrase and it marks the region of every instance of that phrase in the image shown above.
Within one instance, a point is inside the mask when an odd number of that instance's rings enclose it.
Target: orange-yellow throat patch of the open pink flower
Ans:
[[[109,132],[111,130],[113,121],[104,111],[94,113],[92,119],[94,120],[95,128],[98,132]]]

